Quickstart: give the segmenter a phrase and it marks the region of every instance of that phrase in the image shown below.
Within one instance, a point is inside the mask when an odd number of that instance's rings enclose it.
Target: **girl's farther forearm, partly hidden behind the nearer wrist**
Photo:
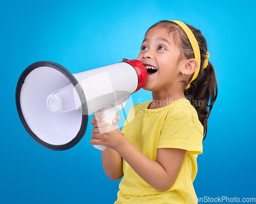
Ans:
[[[122,158],[117,151],[106,147],[101,151],[102,166],[105,174],[112,180],[118,180],[123,176]]]

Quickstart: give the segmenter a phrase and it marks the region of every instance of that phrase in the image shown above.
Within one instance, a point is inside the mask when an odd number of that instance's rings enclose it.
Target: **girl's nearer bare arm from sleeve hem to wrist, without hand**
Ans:
[[[116,150],[147,184],[162,192],[172,187],[186,155],[184,149],[160,148],[154,161],[127,140]]]

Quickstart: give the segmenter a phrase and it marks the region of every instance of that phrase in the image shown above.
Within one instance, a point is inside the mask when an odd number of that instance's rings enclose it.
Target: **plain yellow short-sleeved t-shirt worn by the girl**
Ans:
[[[193,182],[197,174],[197,155],[203,149],[203,126],[195,108],[185,98],[159,109],[147,109],[150,103],[133,106],[122,129],[124,137],[154,161],[158,148],[186,149],[184,162],[172,187],[160,192],[141,179],[123,160],[124,176],[114,204],[190,203],[189,200],[197,197]]]

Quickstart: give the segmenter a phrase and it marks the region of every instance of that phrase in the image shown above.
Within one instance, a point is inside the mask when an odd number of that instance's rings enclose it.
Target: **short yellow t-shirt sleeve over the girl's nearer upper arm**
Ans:
[[[179,148],[186,149],[188,154],[202,154],[202,140],[202,124],[198,117],[180,112],[163,124],[158,148]]]

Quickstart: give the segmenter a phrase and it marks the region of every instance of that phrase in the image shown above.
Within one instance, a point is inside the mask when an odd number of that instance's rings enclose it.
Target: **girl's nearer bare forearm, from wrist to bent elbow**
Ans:
[[[170,179],[160,163],[144,156],[126,139],[116,150],[134,171],[156,190],[166,191],[175,181],[175,176]]]

